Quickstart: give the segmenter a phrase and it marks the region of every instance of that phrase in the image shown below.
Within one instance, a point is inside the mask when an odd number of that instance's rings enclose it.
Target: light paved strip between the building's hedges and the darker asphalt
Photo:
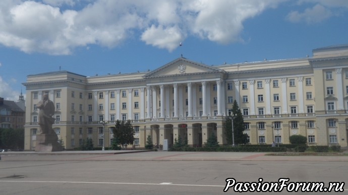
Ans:
[[[347,161],[348,156],[270,156],[265,152],[167,152],[147,150],[4,152],[2,161]]]

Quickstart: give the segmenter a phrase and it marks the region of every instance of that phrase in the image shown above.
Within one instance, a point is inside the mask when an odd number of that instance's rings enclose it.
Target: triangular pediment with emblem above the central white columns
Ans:
[[[144,78],[161,77],[168,75],[189,75],[224,72],[219,68],[207,66],[201,63],[190,61],[186,58],[178,58],[146,74]]]

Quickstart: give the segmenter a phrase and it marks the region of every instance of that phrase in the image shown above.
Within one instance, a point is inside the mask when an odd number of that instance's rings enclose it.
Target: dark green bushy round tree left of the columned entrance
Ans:
[[[113,137],[120,141],[123,148],[127,148],[127,145],[134,143],[134,129],[131,121],[116,121],[115,128],[113,129]]]

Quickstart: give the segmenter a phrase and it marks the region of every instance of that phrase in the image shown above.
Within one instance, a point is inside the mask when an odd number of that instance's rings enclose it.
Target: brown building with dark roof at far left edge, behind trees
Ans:
[[[20,96],[18,102],[4,100],[3,97],[0,97],[0,128],[24,129],[24,125],[25,101],[23,95]]]

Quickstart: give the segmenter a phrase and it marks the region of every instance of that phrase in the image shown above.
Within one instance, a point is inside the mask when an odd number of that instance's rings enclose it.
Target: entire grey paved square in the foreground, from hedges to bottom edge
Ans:
[[[348,157],[284,158],[223,152],[0,155],[0,194],[237,194],[233,187],[223,192],[226,178],[237,182],[258,182],[259,178],[263,178],[262,182],[277,182],[279,178],[289,178],[289,182],[324,182],[325,187],[330,181],[348,181]],[[257,192],[303,193],[286,189]]]

